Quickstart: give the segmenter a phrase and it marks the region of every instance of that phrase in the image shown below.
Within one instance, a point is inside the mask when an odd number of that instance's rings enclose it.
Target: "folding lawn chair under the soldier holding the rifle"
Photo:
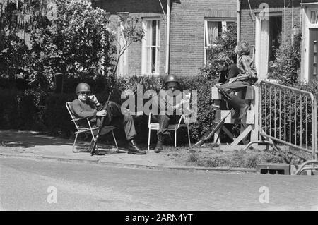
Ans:
[[[88,147],[88,152],[89,152],[90,148],[92,147],[93,142],[95,142],[95,140],[96,140],[95,136],[98,134],[99,128],[98,127],[92,127],[90,125],[90,121],[88,120],[88,118],[76,118],[75,115],[73,114],[73,109],[71,107],[71,102],[66,102],[65,105],[66,105],[67,111],[69,111],[69,115],[71,116],[71,121],[73,121],[73,123],[74,123],[74,125],[76,126],[76,129],[77,129],[77,131],[75,132],[76,136],[75,136],[75,140],[74,140],[74,143],[73,143],[73,152],[75,153],[74,147],[75,147],[75,144],[76,144],[76,140],[77,140],[78,134],[80,134],[80,133],[86,133],[86,134],[90,133],[92,135],[92,140],[90,140],[90,146]],[[88,126],[84,126],[84,127],[80,126],[78,124],[78,121],[87,121]],[[119,150],[118,150],[117,140],[116,140],[116,138],[114,136],[114,129],[116,129],[114,126],[103,126],[101,135],[107,134],[107,133],[109,133],[111,131],[112,132],[112,137],[114,138],[114,142],[115,142],[115,145],[116,145],[116,148],[117,148],[117,152],[118,152]]]

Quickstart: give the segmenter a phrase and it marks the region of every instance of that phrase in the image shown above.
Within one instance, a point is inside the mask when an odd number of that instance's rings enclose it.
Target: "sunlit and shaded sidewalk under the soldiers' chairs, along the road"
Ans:
[[[89,142],[78,141],[79,150],[87,150]],[[0,157],[30,157],[35,159],[55,159],[61,161],[90,162],[121,166],[148,167],[157,169],[200,169],[218,171],[250,171],[254,169],[187,167],[177,164],[166,154],[153,151],[143,155],[127,154],[119,147],[119,152],[112,145],[99,145],[105,155],[90,156],[89,152],[72,152],[73,140],[38,135],[32,131],[0,130]]]

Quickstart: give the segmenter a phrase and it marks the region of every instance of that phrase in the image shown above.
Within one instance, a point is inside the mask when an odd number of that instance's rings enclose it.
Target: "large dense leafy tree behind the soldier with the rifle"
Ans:
[[[112,65],[114,47],[107,31],[105,10],[93,8],[90,1],[57,1],[56,20],[35,20],[31,30],[33,52],[30,83],[52,87],[52,75],[85,78],[104,74]]]

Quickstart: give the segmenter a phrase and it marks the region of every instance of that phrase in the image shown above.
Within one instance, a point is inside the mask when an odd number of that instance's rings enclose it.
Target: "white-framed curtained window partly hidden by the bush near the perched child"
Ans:
[[[209,63],[208,52],[213,48],[213,42],[226,32],[231,23],[235,23],[235,18],[207,18],[204,20],[204,66]]]

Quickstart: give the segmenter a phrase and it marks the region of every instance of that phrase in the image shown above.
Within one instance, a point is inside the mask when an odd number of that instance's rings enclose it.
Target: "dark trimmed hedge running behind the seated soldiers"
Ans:
[[[215,110],[211,107],[211,87],[216,83],[216,80],[208,80],[202,75],[182,77],[180,80],[183,90],[197,90],[198,93],[197,120],[196,123],[190,124],[191,139],[192,142],[196,142],[206,130],[213,126]],[[121,92],[123,90],[133,90],[136,94],[138,84],[143,85],[143,92],[146,90],[158,91],[163,87],[163,78],[136,75],[128,78],[117,78],[112,82],[114,91],[110,99],[122,104],[126,99],[120,99]],[[295,87],[302,90],[310,90],[316,95],[318,83],[298,83]],[[95,92],[101,103],[106,101],[109,95],[108,90],[109,88],[105,88],[102,92]],[[75,130],[65,107],[65,102],[76,98],[75,93],[56,94],[36,90],[0,90],[0,96],[1,129],[40,130],[50,135],[60,135],[65,138],[69,138]],[[144,101],[147,100],[144,99]],[[267,115],[269,116],[269,114]],[[135,118],[136,130],[139,133],[137,140],[139,142],[146,143],[148,140],[147,123],[148,116],[146,115]],[[187,143],[186,131],[184,129],[178,135],[178,143]],[[232,131],[236,132],[235,130]],[[122,137],[123,135],[120,136]],[[155,135],[152,136],[152,142],[154,142]]]

